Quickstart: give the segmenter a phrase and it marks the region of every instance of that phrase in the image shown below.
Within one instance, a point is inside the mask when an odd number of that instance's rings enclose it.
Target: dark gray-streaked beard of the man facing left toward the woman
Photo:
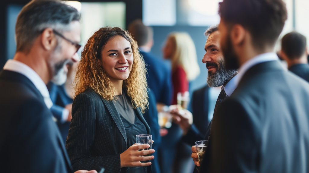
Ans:
[[[208,71],[207,84],[209,87],[222,86],[238,73],[238,70],[226,70],[223,59],[218,60],[218,63],[209,62],[206,64],[206,67],[210,66],[215,67],[216,71]]]

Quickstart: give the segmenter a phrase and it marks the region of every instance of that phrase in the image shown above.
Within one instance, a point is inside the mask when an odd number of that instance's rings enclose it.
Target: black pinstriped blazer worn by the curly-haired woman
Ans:
[[[134,111],[150,134],[140,109]],[[112,101],[103,99],[92,89],[86,89],[74,98],[66,140],[74,171],[99,171],[104,167],[104,173],[126,172],[127,167],[120,168],[120,154],[128,149],[126,142],[125,126]],[[148,169],[151,173],[151,166]]]

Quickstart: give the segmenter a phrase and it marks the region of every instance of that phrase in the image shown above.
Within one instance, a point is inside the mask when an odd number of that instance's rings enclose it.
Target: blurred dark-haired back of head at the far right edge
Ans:
[[[298,32],[290,32],[282,37],[281,50],[290,60],[299,59],[306,52],[307,39]]]

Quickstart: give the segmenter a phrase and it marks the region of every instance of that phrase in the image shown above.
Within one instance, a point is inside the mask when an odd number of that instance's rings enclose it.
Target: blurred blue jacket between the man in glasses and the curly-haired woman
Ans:
[[[66,143],[66,137],[70,129],[70,122],[62,123],[62,111],[67,104],[73,103],[73,99],[66,94],[64,85],[56,85],[53,82],[47,84],[49,91],[49,96],[53,101],[53,106],[50,110],[53,113],[53,116],[57,118],[57,126],[60,130],[62,140],[64,144]]]

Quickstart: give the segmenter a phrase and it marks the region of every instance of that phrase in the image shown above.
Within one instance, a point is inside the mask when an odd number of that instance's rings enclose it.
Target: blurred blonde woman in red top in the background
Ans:
[[[163,57],[171,60],[173,97],[171,104],[177,105],[177,93],[188,92],[189,81],[200,73],[195,45],[188,33],[175,32],[167,37]],[[181,128],[172,123],[168,134],[162,137],[160,147],[161,171],[163,173],[192,171],[191,146],[181,142]],[[176,152],[176,150],[182,152]]]

